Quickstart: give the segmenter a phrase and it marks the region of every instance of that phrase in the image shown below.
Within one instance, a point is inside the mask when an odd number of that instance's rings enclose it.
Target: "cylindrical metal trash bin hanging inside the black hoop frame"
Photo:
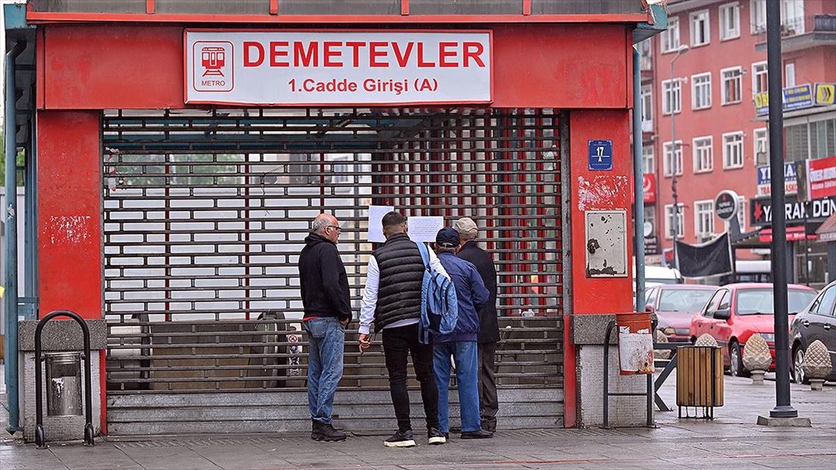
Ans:
[[[44,354],[47,367],[47,416],[81,416],[81,353]]]

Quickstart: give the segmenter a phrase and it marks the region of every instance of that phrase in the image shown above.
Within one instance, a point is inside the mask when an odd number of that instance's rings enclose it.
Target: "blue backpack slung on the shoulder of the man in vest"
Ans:
[[[424,280],[421,284],[421,321],[418,340],[430,344],[430,335],[449,335],[456,329],[459,304],[453,282],[430,267],[430,253],[426,244],[416,242],[424,260]]]

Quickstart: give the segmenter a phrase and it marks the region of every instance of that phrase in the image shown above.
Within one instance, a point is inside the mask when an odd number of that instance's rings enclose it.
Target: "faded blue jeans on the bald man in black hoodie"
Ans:
[[[308,411],[311,419],[331,422],[334,393],[343,376],[345,327],[335,317],[304,322],[308,332]]]

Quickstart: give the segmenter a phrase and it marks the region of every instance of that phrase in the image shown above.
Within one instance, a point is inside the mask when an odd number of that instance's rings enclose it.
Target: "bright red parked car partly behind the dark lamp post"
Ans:
[[[797,314],[813,301],[816,291],[803,285],[789,284],[788,312]],[[792,321],[792,316],[790,317]],[[726,348],[724,365],[731,375],[745,375],[743,345],[760,333],[767,340],[775,369],[775,319],[772,284],[728,284],[717,290],[699,314],[691,319],[691,340],[708,333]],[[784,333],[789,335],[789,331]]]

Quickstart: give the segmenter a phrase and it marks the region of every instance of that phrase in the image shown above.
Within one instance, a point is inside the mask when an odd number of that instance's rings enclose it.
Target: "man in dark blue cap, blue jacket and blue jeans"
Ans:
[[[441,265],[456,286],[458,321],[449,335],[433,339],[433,372],[438,386],[438,428],[445,437],[450,432],[448,389],[450,388],[450,357],[456,361],[456,383],[461,406],[461,438],[484,439],[492,432],[482,430],[479,417],[479,359],[477,335],[479,309],[490,294],[475,266],[456,257],[459,233],[452,227],[442,228],[436,235],[436,253]]]

